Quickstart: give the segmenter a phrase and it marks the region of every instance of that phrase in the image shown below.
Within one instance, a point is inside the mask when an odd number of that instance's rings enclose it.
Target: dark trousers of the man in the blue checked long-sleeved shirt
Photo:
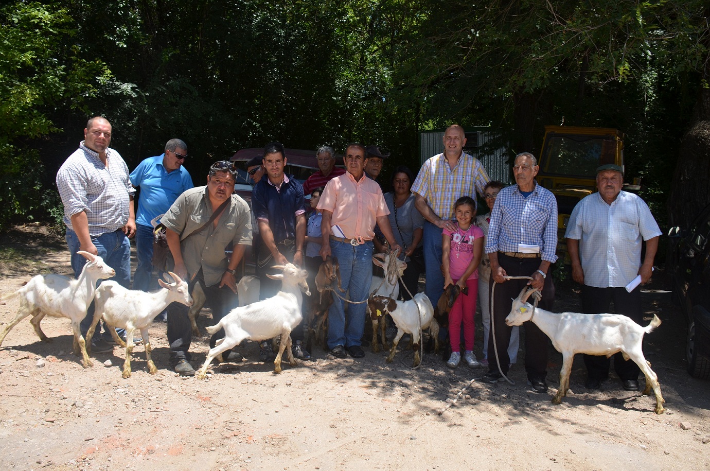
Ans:
[[[540,259],[516,259],[498,252],[498,263],[501,264],[508,276],[532,276],[540,267]],[[520,291],[528,284],[527,279],[508,280],[505,283],[497,284],[493,282],[493,276],[489,283],[490,299],[493,305],[492,328],[488,335],[488,364],[493,372],[498,371],[496,363],[496,348],[493,346],[493,332],[495,332],[495,344],[498,347],[498,359],[501,362],[501,371],[508,373],[508,344],[510,344],[510,332],[513,327],[506,325],[506,317],[510,314],[513,306],[513,298],[517,298]],[[493,286],[495,285],[495,290]],[[542,288],[542,300],[537,305],[545,310],[552,309],[555,301],[555,283],[552,282],[552,270],[545,278],[545,286]],[[547,339],[542,330],[537,325],[528,321],[523,323],[525,327],[525,371],[528,372],[528,379],[545,379],[547,376],[547,347],[550,340]]]

